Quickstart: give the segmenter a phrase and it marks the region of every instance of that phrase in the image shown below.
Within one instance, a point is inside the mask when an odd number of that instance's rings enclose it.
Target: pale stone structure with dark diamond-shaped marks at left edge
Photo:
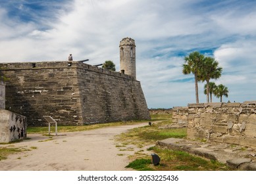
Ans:
[[[5,110],[5,83],[0,81],[0,143],[26,139],[26,117]]]

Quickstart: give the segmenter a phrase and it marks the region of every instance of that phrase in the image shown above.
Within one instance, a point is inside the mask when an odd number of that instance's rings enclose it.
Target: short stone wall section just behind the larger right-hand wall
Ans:
[[[174,106],[172,108],[172,123],[188,124],[188,106]]]

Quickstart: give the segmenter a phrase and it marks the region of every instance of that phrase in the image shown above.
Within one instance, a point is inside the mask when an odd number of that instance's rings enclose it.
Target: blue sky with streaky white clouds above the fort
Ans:
[[[256,100],[254,0],[0,0],[0,62],[72,53],[88,64],[113,60],[119,71],[123,37],[136,41],[137,80],[149,108],[195,103],[193,75],[182,74],[192,51],[218,60],[223,72],[214,81],[230,91],[224,102]]]

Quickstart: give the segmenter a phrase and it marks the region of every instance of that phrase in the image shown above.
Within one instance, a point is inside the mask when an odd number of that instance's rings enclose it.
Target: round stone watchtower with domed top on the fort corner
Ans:
[[[130,75],[136,79],[136,52],[135,41],[125,37],[120,41],[120,72]]]

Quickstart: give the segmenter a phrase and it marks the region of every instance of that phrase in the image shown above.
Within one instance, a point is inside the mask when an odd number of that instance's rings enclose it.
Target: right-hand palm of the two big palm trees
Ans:
[[[206,95],[207,95],[207,103],[209,103],[209,82],[211,79],[218,79],[221,76],[222,68],[218,67],[218,61],[212,57],[205,57],[203,66],[202,66],[202,73],[200,76],[201,81],[206,81]]]

